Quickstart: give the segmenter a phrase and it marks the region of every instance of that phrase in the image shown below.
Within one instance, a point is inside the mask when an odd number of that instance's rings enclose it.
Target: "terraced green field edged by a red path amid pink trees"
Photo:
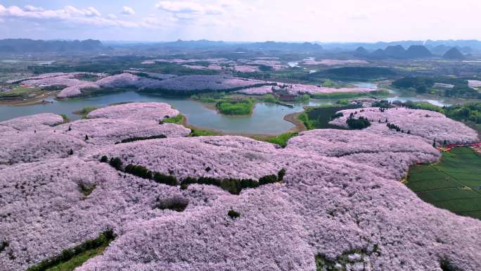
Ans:
[[[442,153],[440,163],[411,167],[406,186],[434,206],[481,219],[481,156],[468,147]]]

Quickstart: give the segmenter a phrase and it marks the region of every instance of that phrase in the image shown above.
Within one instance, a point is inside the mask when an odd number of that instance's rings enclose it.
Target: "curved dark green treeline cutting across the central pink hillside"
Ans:
[[[243,189],[256,188],[264,184],[282,182],[284,175],[286,175],[286,170],[281,169],[277,175],[266,175],[260,177],[258,181],[254,179],[216,179],[212,177],[186,177],[185,179],[177,180],[174,175],[165,175],[160,172],[148,170],[148,168],[144,167],[143,165],[129,164],[125,166],[125,168],[122,168],[122,160],[120,158],[110,158],[109,160],[107,156],[102,156],[101,162],[109,163],[109,165],[116,170],[129,173],[143,179],[152,179],[159,184],[167,184],[170,186],[180,185],[181,189],[187,189],[190,184],[208,184],[220,187],[221,189],[224,189],[225,191],[228,191],[234,195],[240,194]],[[209,172],[210,170],[211,168],[205,168],[206,172]]]

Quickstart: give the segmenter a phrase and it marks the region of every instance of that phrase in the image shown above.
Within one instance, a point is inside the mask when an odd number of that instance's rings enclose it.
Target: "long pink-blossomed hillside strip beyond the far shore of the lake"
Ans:
[[[269,62],[269,61],[268,61]],[[251,66],[238,65],[236,70],[252,71]],[[82,80],[82,76],[96,77],[97,80]],[[79,79],[80,78],[80,79]],[[27,86],[58,87],[57,98],[108,93],[119,89],[134,89],[146,92],[167,94],[195,94],[198,92],[239,92],[248,95],[263,95],[273,92],[286,92],[290,95],[338,94],[376,92],[377,88],[366,87],[321,87],[312,84],[284,84],[265,80],[254,80],[233,75],[166,75],[160,73],[140,73],[126,70],[124,73],[107,75],[104,73],[46,73],[34,77],[10,80],[9,84],[22,83]]]

